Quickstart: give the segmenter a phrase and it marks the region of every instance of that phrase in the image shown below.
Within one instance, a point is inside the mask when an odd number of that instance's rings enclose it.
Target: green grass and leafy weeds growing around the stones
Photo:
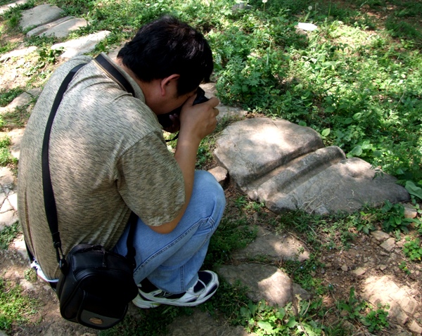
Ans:
[[[309,126],[323,135],[326,146],[339,146],[347,157],[361,157],[374,168],[397,176],[412,188],[415,207],[421,210],[422,181],[422,3],[409,0],[344,0],[309,3],[305,0],[250,0],[251,9],[232,11],[235,0],[160,1],[73,1],[49,0],[66,15],[86,18],[90,25],[73,37],[110,30],[109,37],[94,53],[108,51],[129,39],[145,22],[171,13],[205,34],[212,46],[215,72],[212,79],[220,100],[250,112],[281,117]],[[0,0],[0,4],[5,4]],[[0,36],[18,34],[20,11],[41,1],[30,1],[8,11],[0,21]],[[309,8],[309,6],[311,8]],[[300,34],[297,22],[312,22],[318,30]],[[55,38],[25,38],[26,46],[39,47],[39,60],[27,67],[30,83],[44,83],[55,67],[58,52],[50,47]],[[0,54],[11,51],[13,42],[1,42]],[[10,103],[23,88],[1,89],[0,106]],[[18,109],[2,116],[6,122],[23,126],[30,109]],[[219,132],[235,118],[219,122],[198,151],[198,169],[213,164],[212,150]],[[4,127],[4,124],[2,125]],[[0,161],[9,162],[7,139],[0,147]],[[169,143],[170,147],[175,142]],[[9,162],[10,163],[10,162]],[[7,164],[7,163],[6,163]],[[409,184],[413,181],[413,184]],[[418,189],[419,188],[419,189]],[[296,302],[284,309],[253,303],[239,283],[222,281],[217,294],[201,306],[212,316],[231,325],[243,325],[257,335],[294,335],[307,328],[308,335],[351,335],[343,320],[373,332],[386,328],[383,307],[370,307],[354,298],[338,300],[330,313],[322,298],[332,287],[316,276],[324,268],[321,254],[347,250],[357,235],[376,228],[402,235],[411,221],[404,219],[399,205],[381,209],[362,208],[354,214],[321,217],[304,212],[286,212],[276,217],[262,204],[244,196],[228,200],[224,219],[210,242],[204,267],[217,269],[230,262],[231,253],[248,245],[256,236],[256,224],[276,232],[298,235],[309,247],[309,260],[277,264],[293,280],[314,294],[311,302]],[[254,215],[255,214],[255,215]],[[255,216],[255,217],[254,217]],[[407,263],[398,272],[410,272],[421,259],[422,224],[413,221],[416,233],[404,244]],[[18,225],[0,233],[0,246],[7,248],[19,231]],[[264,257],[255,262],[274,264]],[[409,267],[409,269],[408,269]],[[402,270],[402,271],[400,271]],[[346,310],[347,316],[340,315]],[[127,316],[124,323],[101,335],[163,335],[177,316],[192,309],[160,307]],[[16,321],[20,321],[16,318]],[[9,324],[10,325],[10,324]],[[303,332],[302,332],[303,334]]]

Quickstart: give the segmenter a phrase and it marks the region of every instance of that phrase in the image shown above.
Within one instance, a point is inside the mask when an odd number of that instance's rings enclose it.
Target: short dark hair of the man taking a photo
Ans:
[[[203,34],[168,15],[143,25],[117,58],[143,82],[180,75],[179,96],[208,82],[213,68],[211,48]]]

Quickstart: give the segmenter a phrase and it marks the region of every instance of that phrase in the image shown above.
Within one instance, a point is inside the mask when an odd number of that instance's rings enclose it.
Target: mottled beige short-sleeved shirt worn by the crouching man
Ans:
[[[25,129],[18,169],[20,224],[51,279],[58,278],[59,271],[44,209],[41,146],[58,87],[79,63],[88,64],[63,96],[49,147],[63,252],[79,243],[111,249],[131,210],[147,225],[159,226],[176,217],[185,199],[179,165],[136,82],[120,69],[134,87],[135,98],[91,58],[72,58],[56,70],[39,96]]]

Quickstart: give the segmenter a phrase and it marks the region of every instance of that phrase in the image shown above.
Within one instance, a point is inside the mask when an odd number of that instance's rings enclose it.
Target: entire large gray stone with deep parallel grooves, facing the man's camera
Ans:
[[[316,131],[286,120],[236,122],[222,132],[216,145],[215,157],[231,181],[276,213],[353,212],[385,200],[409,200],[394,177],[376,176],[368,162],[346,160],[340,148],[324,148]]]

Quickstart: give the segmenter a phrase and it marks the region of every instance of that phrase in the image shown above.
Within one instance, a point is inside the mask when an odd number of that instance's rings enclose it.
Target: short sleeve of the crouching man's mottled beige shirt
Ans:
[[[181,169],[159,132],[143,136],[117,164],[119,193],[148,226],[172,221],[185,202]]]

